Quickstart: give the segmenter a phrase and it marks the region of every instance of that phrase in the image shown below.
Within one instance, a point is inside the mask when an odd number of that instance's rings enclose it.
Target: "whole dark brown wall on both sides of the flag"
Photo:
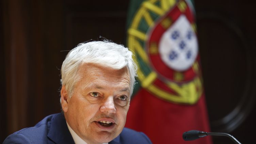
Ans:
[[[128,3],[0,1],[0,141],[60,112],[59,69],[67,50],[99,36],[125,44]],[[256,121],[256,4],[196,0],[195,6],[211,128],[250,143]],[[214,143],[232,142],[214,138]]]

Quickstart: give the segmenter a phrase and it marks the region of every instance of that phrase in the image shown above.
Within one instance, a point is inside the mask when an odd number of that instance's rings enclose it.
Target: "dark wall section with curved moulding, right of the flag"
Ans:
[[[255,1],[196,0],[211,129],[253,142],[255,129]],[[214,143],[233,143],[214,137]]]

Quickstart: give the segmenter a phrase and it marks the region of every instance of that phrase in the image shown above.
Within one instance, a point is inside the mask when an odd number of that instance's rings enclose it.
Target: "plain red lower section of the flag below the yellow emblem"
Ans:
[[[182,134],[188,130],[210,131],[205,96],[195,105],[174,104],[147,92],[133,97],[126,127],[143,131],[153,144],[211,144],[211,137],[186,142]]]

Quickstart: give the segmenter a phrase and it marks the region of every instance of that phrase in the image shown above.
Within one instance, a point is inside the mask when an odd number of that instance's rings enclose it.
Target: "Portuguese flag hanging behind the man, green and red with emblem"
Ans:
[[[154,144],[211,144],[205,137],[186,142],[188,130],[209,132],[193,3],[188,0],[131,0],[127,46],[138,78],[126,127]]]

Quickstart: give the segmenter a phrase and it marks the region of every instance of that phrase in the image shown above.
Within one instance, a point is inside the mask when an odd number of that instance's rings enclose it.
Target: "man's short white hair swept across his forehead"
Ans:
[[[80,43],[69,51],[61,66],[61,84],[65,85],[69,98],[73,95],[76,82],[81,78],[78,68],[84,63],[94,63],[113,69],[127,67],[130,74],[130,92],[132,94],[137,65],[132,59],[132,52],[123,45],[109,41]],[[130,94],[130,95],[131,95]]]

